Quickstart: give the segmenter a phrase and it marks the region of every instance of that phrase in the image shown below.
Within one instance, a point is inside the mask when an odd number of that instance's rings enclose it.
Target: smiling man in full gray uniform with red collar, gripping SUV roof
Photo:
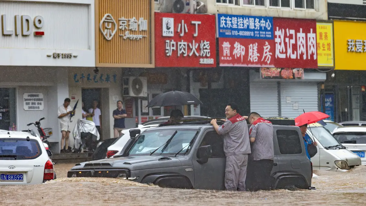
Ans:
[[[212,119],[219,135],[224,136],[224,152],[226,156],[225,188],[228,191],[245,191],[245,178],[247,176],[248,154],[250,154],[249,131],[247,122],[238,114],[238,106],[229,103],[225,108],[225,123],[217,125]]]

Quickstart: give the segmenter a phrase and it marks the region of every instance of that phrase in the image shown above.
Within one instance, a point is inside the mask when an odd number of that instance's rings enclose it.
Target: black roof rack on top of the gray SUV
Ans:
[[[295,126],[295,119],[292,119],[292,118],[287,118],[287,117],[263,117],[263,118],[272,122],[273,125]],[[210,124],[212,119],[217,119],[217,124],[223,125],[224,121],[221,121],[220,119],[225,119],[225,118],[219,117],[219,118],[205,118],[205,119],[181,119],[177,123],[160,124],[158,127],[168,126],[168,125]],[[247,120],[247,124],[249,124],[248,120]]]

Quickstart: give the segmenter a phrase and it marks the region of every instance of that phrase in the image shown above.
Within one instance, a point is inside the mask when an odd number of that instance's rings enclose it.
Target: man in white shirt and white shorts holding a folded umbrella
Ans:
[[[70,114],[72,112],[75,113],[75,111],[72,111],[72,108],[70,107],[70,102],[70,98],[66,98],[64,103],[59,107],[58,111],[59,116],[57,118],[60,119],[60,128],[62,133],[60,153],[66,152],[68,150],[68,138],[70,135]]]

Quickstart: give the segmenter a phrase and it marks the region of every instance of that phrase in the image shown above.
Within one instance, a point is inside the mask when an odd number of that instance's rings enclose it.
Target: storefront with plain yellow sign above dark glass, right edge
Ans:
[[[365,32],[365,22],[334,20],[335,71],[325,82],[323,108],[333,121],[366,121]]]

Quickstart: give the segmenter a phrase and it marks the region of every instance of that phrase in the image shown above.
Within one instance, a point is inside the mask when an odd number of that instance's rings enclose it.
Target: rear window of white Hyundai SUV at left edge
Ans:
[[[37,140],[22,138],[0,138],[0,159],[36,159],[42,154]]]

